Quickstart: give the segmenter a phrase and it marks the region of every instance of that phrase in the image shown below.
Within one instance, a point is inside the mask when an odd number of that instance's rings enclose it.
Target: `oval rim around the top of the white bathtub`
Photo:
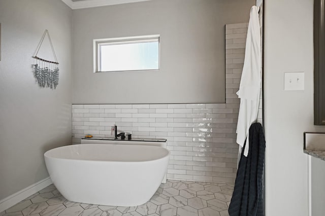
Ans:
[[[100,146],[107,146],[107,145],[112,145],[112,146],[146,146],[148,147],[148,145],[128,145],[128,144],[102,144],[102,143],[83,143],[83,144],[75,144],[75,145],[67,145],[67,146],[61,146],[61,147],[57,147],[54,149],[50,149],[48,151],[46,151],[44,153],[44,158],[48,158],[48,159],[53,159],[53,160],[66,160],[66,161],[87,161],[87,162],[114,162],[114,163],[145,163],[145,162],[150,162],[150,161],[157,161],[157,160],[161,160],[163,158],[169,157],[171,155],[171,151],[169,151],[168,149],[164,148],[164,147],[159,147],[159,146],[150,146],[150,147],[155,147],[155,148],[161,148],[167,151],[168,154],[166,154],[163,157],[159,157],[153,160],[145,160],[145,161],[116,161],[116,160],[86,160],[86,159],[72,159],[72,158],[59,158],[59,157],[49,157],[46,155],[46,153],[55,150],[55,149],[60,149],[60,148],[66,148],[66,147],[70,147],[70,146],[83,146],[83,145],[100,145]]]

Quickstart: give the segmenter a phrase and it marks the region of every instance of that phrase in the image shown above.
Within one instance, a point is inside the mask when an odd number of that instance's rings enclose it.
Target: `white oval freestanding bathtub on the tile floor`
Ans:
[[[74,202],[137,206],[158,189],[170,152],[157,146],[80,144],[44,154],[57,190]]]

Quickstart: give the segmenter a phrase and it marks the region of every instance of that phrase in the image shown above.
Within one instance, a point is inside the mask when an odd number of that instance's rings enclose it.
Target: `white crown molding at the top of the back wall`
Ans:
[[[145,1],[152,0],[62,0],[62,2],[66,3],[66,5],[68,5],[73,10]]]

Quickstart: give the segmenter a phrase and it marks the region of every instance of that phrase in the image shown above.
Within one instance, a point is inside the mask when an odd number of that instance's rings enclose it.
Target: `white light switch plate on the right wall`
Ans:
[[[305,72],[284,73],[284,90],[305,90]]]

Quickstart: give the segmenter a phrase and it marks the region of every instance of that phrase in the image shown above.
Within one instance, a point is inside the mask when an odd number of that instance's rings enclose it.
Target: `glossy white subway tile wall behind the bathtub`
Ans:
[[[226,103],[73,104],[73,143],[80,143],[85,134],[109,137],[116,124],[135,138],[168,140],[168,179],[235,183],[240,102],[236,92],[247,26],[226,25],[227,45],[234,45],[226,46]]]

